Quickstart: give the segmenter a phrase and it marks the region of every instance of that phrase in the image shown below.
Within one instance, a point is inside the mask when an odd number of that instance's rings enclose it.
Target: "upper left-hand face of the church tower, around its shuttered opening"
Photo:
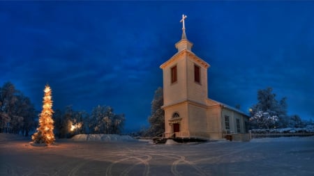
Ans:
[[[171,83],[171,68],[177,65],[177,81]],[[164,106],[186,100],[186,61],[184,57],[163,69]]]

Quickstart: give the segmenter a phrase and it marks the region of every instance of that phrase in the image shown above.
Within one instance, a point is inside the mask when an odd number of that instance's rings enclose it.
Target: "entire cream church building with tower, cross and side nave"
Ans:
[[[160,65],[163,70],[165,138],[218,140],[247,132],[248,115],[208,98],[209,63],[196,56],[186,38],[184,20],[177,53]]]

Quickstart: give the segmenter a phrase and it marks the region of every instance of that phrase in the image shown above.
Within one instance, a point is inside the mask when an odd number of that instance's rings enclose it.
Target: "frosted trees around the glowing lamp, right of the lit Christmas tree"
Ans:
[[[65,111],[56,110],[54,135],[57,138],[70,138],[75,134],[121,134],[124,128],[124,114],[115,114],[110,106],[96,106],[91,114],[74,111],[67,106]]]

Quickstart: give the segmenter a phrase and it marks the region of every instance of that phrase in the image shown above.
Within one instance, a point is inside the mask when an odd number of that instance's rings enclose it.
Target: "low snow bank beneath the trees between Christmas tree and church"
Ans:
[[[121,136],[118,134],[77,134],[73,136],[73,141],[104,141],[104,142],[126,142],[136,141],[131,136]]]

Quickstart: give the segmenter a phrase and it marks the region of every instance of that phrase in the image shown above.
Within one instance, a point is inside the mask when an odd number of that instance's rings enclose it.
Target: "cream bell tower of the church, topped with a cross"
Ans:
[[[191,50],[193,43],[186,38],[186,17],[182,15],[180,21],[183,27],[181,40],[175,44],[177,53],[160,65],[167,137],[190,137],[196,129],[207,128],[206,123],[199,125],[198,121],[207,119],[207,68],[210,65]]]

